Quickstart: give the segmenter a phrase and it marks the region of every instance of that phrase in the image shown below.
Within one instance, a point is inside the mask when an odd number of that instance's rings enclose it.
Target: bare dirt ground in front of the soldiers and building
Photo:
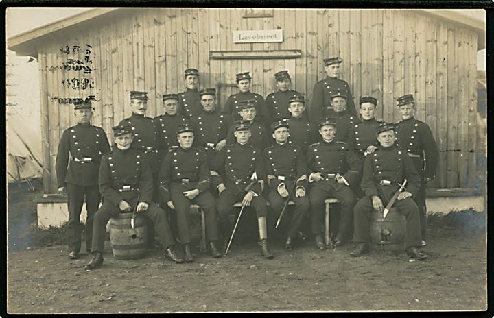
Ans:
[[[9,194],[8,313],[486,309],[484,213],[431,219],[425,262],[376,249],[353,258],[351,243],[286,252],[281,238],[264,260],[249,238],[226,257],[196,249],[195,262],[174,264],[159,249],[116,260],[107,241],[104,266],[85,271],[88,255],[69,260],[64,245],[30,238],[39,195]]]

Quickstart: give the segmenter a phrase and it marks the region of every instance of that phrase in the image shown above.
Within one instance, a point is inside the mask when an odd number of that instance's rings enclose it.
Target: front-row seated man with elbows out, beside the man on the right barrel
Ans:
[[[319,134],[322,136],[322,141],[310,145],[307,151],[307,166],[311,183],[309,188],[311,231],[315,235],[316,246],[325,249],[320,235],[321,219],[325,210],[324,201],[328,197],[336,197],[341,202],[338,234],[333,241],[333,246],[336,247],[344,241],[344,237],[351,230],[356,198],[349,185],[355,182],[355,177],[362,168],[362,160],[348,148],[346,143],[335,140],[338,130],[334,119],[322,119],[319,123]],[[337,217],[335,211],[331,209],[333,220]]]

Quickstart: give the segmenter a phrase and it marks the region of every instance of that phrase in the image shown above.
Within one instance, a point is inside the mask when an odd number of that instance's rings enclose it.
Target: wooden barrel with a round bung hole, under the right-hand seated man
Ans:
[[[371,241],[388,251],[403,251],[406,243],[405,216],[396,208],[390,209],[386,219],[382,216],[380,212],[371,212],[369,222]]]

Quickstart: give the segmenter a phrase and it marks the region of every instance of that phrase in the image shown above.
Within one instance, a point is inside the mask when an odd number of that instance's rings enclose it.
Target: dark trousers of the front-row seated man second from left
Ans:
[[[176,218],[178,223],[178,234],[180,235],[181,243],[190,243],[190,219],[189,208],[191,204],[197,204],[204,210],[206,221],[206,241],[217,241],[217,213],[216,203],[213,195],[209,191],[200,193],[193,200],[188,199],[183,195],[183,191],[187,191],[181,184],[172,184],[171,197],[175,206]]]

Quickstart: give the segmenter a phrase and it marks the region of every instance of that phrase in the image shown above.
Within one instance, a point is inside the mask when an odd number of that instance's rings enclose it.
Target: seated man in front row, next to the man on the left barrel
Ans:
[[[195,203],[206,214],[206,236],[211,256],[221,253],[216,248],[217,214],[215,199],[209,193],[209,166],[204,152],[193,146],[194,132],[191,125],[181,125],[177,130],[178,146],[172,147],[160,170],[161,201],[174,209],[178,220],[180,242],[185,244],[185,262],[192,262],[189,232],[189,207]]]

